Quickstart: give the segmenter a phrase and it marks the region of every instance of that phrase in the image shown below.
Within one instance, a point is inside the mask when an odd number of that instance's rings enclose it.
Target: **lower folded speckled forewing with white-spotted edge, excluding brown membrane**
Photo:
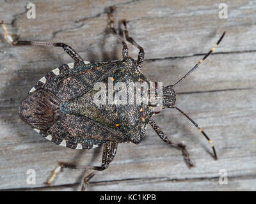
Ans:
[[[42,133],[44,137],[72,149],[92,149],[106,142],[128,142],[118,129],[102,126],[83,115],[60,113],[59,119]]]

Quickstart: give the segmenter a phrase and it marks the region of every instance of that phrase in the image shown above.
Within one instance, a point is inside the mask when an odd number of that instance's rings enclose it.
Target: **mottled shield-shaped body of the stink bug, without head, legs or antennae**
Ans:
[[[150,84],[131,57],[65,64],[38,80],[19,106],[20,118],[48,140],[72,149],[92,149],[111,142],[140,143],[154,112],[143,103],[94,103],[95,84],[108,87],[109,78],[114,86],[118,82],[127,87],[136,82]],[[113,92],[113,98],[117,93]],[[169,99],[175,100],[174,92]]]

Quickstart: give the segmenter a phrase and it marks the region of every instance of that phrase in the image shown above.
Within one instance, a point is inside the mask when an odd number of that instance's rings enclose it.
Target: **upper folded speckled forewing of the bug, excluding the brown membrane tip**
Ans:
[[[75,62],[74,67],[47,81],[42,88],[62,101],[77,98],[92,89],[96,82],[113,75],[119,61],[108,63]]]

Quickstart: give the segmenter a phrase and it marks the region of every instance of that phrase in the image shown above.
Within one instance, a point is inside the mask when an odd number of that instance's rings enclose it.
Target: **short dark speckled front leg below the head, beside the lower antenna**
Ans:
[[[192,163],[192,161],[189,158],[189,153],[186,150],[186,145],[183,145],[182,143],[175,143],[175,142],[172,142],[172,141],[168,140],[167,136],[163,133],[161,128],[159,128],[159,126],[157,126],[157,124],[156,124],[156,122],[154,120],[150,119],[149,120],[149,124],[152,126],[152,128],[157,133],[159,138],[161,138],[161,140],[163,140],[164,142],[170,144],[173,147],[177,147],[177,148],[182,150],[182,153],[184,155],[184,159],[185,159],[186,163],[188,164],[189,168],[194,166],[194,164]]]

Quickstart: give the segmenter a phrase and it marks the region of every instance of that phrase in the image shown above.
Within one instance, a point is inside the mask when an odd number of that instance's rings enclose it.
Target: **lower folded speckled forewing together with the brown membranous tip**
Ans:
[[[119,129],[109,128],[84,115],[60,111],[60,99],[45,89],[38,89],[25,98],[19,115],[42,136],[72,149],[92,149],[106,142],[128,142]]]

